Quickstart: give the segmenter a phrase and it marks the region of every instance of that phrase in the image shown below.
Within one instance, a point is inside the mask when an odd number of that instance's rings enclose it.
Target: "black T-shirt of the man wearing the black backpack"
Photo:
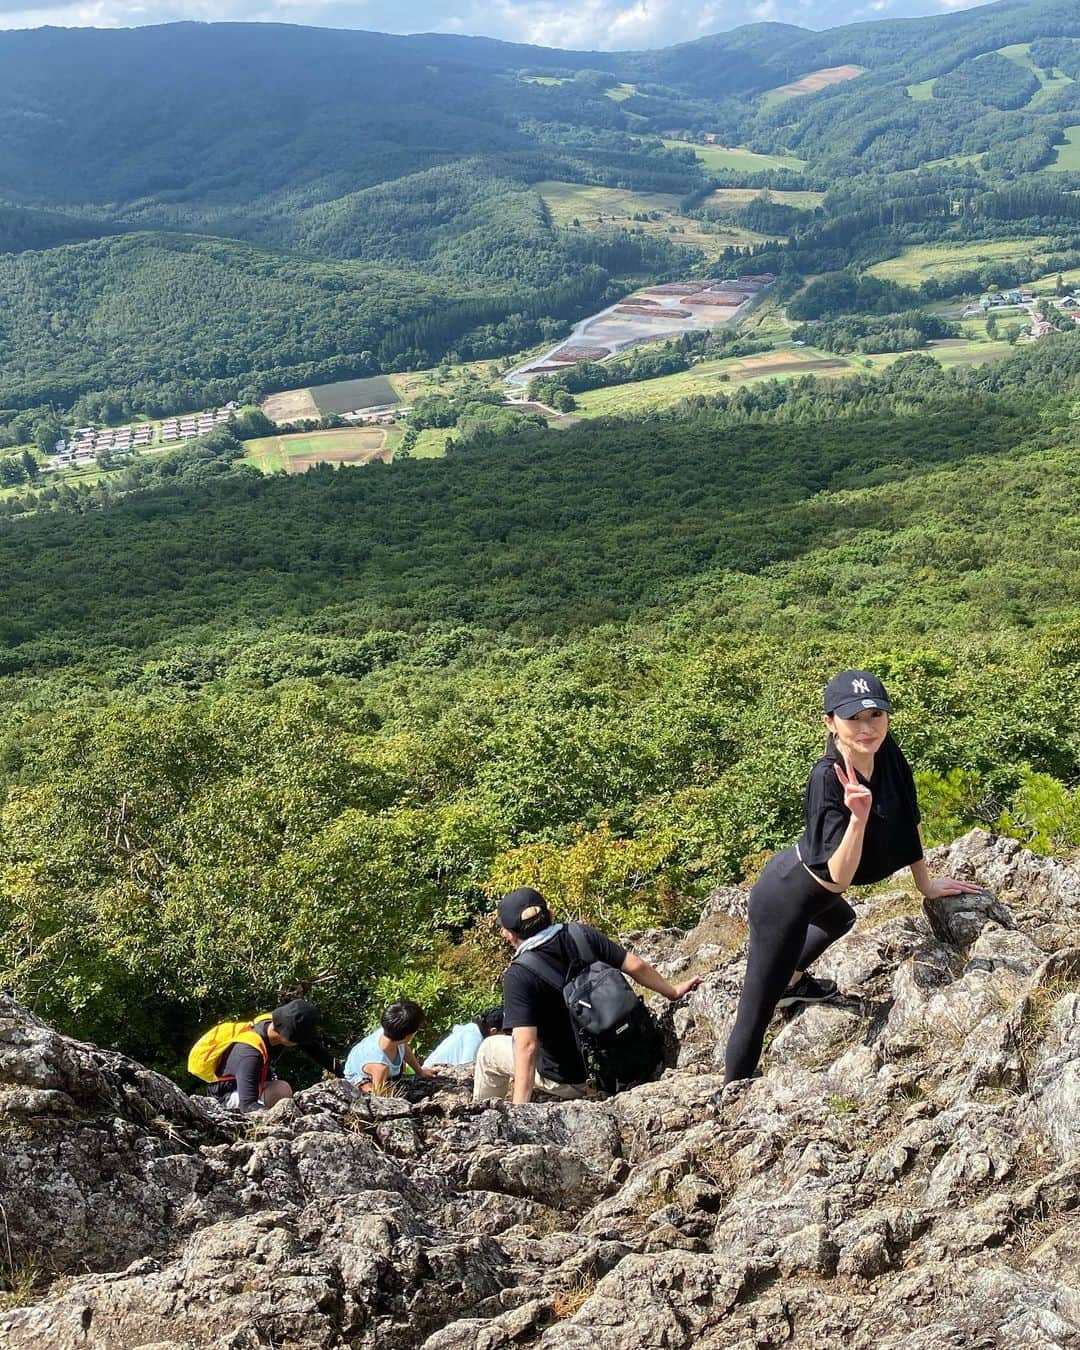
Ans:
[[[606,961],[617,971],[622,969],[625,948],[585,923],[575,927],[587,940],[590,961]],[[552,977],[559,980],[559,988],[520,960],[513,960],[502,976],[502,1029],[512,1031],[516,1026],[535,1026],[540,1038],[537,1071],[556,1083],[585,1083],[585,1062],[562,991],[571,965],[580,961],[566,925],[543,946],[532,948],[531,956],[544,963]]]

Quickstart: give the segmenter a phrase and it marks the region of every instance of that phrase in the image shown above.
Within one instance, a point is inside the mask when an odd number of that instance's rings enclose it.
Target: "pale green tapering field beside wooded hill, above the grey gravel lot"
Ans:
[[[680,197],[666,192],[630,192],[625,188],[593,188],[578,182],[537,182],[533,185],[563,230],[644,230],[678,243],[717,255],[729,244],[763,243],[765,235],[734,225],[706,231],[699,220],[679,212]],[[647,213],[652,220],[634,220]],[[676,234],[671,234],[671,230]]]

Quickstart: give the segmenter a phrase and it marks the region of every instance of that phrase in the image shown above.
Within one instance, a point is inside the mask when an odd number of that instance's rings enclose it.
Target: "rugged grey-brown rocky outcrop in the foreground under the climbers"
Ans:
[[[732,890],[634,936],[707,973],[609,1100],[459,1075],[240,1119],[0,999],[0,1345],[1080,1346],[1080,869],[979,833],[936,863],[987,894],[863,902],[845,998],[728,1088]]]

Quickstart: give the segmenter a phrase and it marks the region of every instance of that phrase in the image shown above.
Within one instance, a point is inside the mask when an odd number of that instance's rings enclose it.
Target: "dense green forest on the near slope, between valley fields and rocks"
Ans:
[[[678,919],[790,840],[846,664],[932,838],[1080,842],[1077,417],[1069,333],[446,462],[262,478],[225,437],[1,525],[5,983],[166,1065],[279,991],[443,1022],[501,886]]]

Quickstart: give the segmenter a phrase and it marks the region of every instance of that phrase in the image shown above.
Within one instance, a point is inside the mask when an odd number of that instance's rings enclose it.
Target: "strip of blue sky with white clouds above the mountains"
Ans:
[[[969,9],[988,0],[0,0],[0,28],[135,27],[174,19],[463,32],[545,47],[628,50],[693,42],[761,19],[832,28]],[[32,8],[32,5],[40,5]]]

